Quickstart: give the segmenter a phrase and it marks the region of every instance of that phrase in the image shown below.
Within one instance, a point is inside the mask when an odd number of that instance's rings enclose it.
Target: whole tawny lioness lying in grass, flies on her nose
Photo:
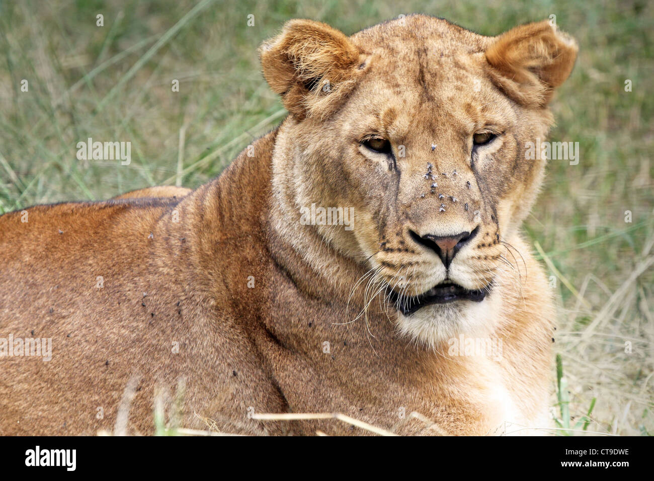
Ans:
[[[576,52],[548,22],[288,22],[260,58],[289,115],[220,177],[0,217],[0,434],[153,433],[155,399],[230,433],[547,427],[525,145]]]

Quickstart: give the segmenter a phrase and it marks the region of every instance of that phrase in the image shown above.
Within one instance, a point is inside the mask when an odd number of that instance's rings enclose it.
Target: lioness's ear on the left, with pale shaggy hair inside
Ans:
[[[340,31],[313,20],[290,20],[259,48],[264,77],[298,119],[334,112],[368,66]]]

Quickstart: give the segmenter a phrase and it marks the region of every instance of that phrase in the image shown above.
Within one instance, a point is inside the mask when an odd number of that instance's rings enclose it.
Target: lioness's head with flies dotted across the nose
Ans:
[[[291,113],[275,151],[292,176],[283,195],[296,219],[354,207],[352,230],[315,228],[385,283],[405,332],[433,344],[492,296],[542,181],[526,143],[547,134],[576,52],[547,21],[485,37],[424,15],[351,37],[292,20],[262,46]]]

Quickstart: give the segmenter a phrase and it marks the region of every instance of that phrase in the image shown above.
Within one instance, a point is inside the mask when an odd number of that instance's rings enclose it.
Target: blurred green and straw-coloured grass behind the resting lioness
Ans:
[[[581,158],[550,163],[525,224],[559,307],[553,414],[562,434],[649,435],[653,10],[646,0],[409,0],[402,10],[382,0],[0,3],[0,213],[151,185],[197,187],[220,173],[284,115],[256,48],[289,18],[353,33],[425,12],[495,35],[555,14],[580,52],[553,103],[550,140],[578,141]],[[131,164],[77,160],[87,137],[131,141]]]

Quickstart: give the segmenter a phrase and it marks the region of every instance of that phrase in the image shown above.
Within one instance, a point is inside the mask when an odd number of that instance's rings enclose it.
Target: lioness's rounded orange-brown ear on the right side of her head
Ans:
[[[492,40],[486,50],[491,78],[525,105],[547,105],[570,75],[577,43],[548,20],[515,27]]]

